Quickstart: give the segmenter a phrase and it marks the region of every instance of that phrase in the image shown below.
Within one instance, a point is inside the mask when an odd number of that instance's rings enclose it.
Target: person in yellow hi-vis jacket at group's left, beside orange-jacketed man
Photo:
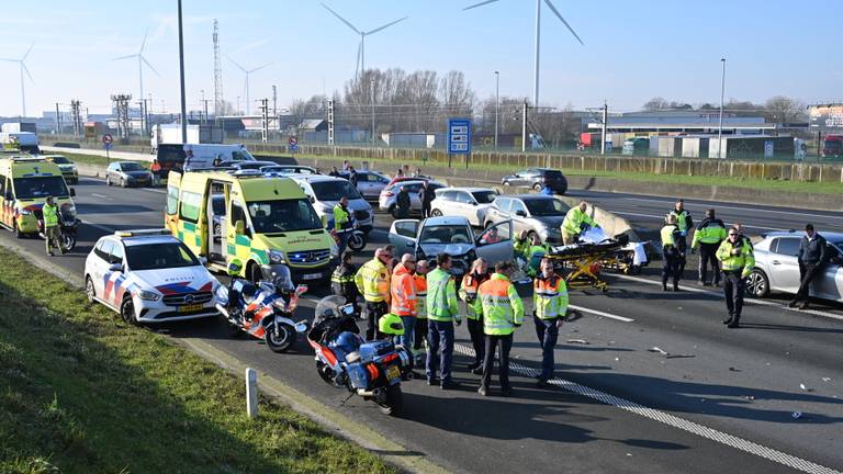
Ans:
[[[392,252],[385,248],[374,251],[374,258],[363,263],[355,275],[357,290],[366,301],[366,339],[378,336],[378,319],[390,312],[390,276],[387,267]]]

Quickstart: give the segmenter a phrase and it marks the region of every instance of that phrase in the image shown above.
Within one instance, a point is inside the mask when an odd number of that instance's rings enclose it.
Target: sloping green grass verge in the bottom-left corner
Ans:
[[[0,473],[386,473],[239,379],[0,248]],[[314,374],[315,376],[315,374]]]

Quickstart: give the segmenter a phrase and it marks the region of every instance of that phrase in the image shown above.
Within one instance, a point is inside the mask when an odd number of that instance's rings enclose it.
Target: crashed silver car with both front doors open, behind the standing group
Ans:
[[[492,266],[513,259],[513,223],[495,224],[475,236],[465,217],[398,219],[390,227],[390,244],[395,246],[397,258],[414,253],[418,260],[434,260],[448,253],[453,261],[451,273],[461,278],[477,258]]]

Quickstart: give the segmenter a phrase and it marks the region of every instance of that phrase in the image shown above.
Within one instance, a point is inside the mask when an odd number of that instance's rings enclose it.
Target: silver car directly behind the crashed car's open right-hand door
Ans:
[[[562,242],[562,221],[571,207],[553,196],[520,194],[498,196],[486,210],[485,227],[504,221],[513,222],[517,234],[538,235],[542,241]]]

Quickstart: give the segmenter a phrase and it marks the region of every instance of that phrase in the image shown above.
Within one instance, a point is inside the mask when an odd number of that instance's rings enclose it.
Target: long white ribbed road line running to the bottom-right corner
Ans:
[[[457,352],[460,352],[463,356],[474,357],[474,349],[468,346],[463,346],[462,343],[456,343],[453,346],[454,346],[453,349]],[[512,359],[509,361],[509,368],[513,372],[516,372],[529,379],[535,379],[540,374],[538,370],[530,369],[519,362],[513,361]],[[743,438],[739,438],[737,436],[729,435],[723,431],[716,430],[713,428],[709,428],[705,425],[700,425],[695,421],[679,418],[675,415],[671,415],[665,411],[645,407],[634,402],[630,402],[626,398],[621,398],[615,395],[609,395],[606,392],[598,391],[596,388],[592,388],[585,385],[581,385],[570,380],[553,377],[549,380],[548,383],[557,385],[558,387],[564,391],[567,391],[577,395],[582,395],[586,398],[600,402],[603,404],[612,406],[615,408],[620,408],[625,411],[629,411],[629,413],[639,415],[641,417],[649,418],[653,421],[657,421],[673,428],[678,428],[692,435],[696,435],[698,437],[709,439],[720,444],[724,444],[729,448],[734,448],[737,450],[741,450],[746,453],[754,454],[760,458],[764,458],[766,460],[773,461],[775,463],[778,463],[798,471],[802,471],[811,474],[841,474],[840,471],[835,471],[831,467],[827,467],[824,465],[817,464],[814,462],[811,462],[801,458],[797,458],[793,454],[788,454],[786,452],[778,451],[773,448],[767,448],[763,444],[758,444],[753,441],[745,440]]]

